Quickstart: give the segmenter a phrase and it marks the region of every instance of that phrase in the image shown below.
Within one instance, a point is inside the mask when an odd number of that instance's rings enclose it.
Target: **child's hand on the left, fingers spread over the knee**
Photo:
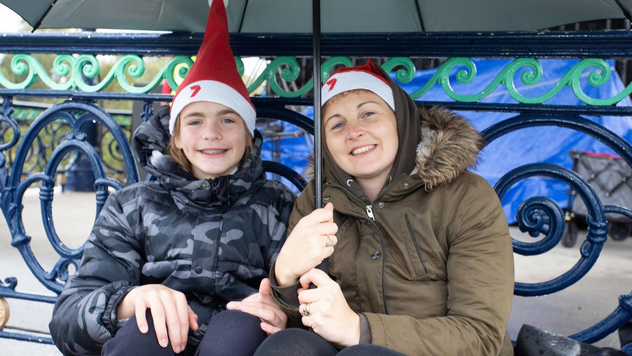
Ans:
[[[189,328],[193,331],[198,329],[197,315],[186,302],[186,296],[162,284],[145,284],[131,289],[123,298],[117,310],[118,319],[136,315],[138,329],[145,334],[149,331],[145,318],[147,308],[151,310],[154,319],[158,343],[167,347],[168,336],[173,352],[180,353],[184,350]]]

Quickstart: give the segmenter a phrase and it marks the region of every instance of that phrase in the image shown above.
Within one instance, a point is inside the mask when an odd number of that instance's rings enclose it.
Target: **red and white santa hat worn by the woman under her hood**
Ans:
[[[384,78],[377,65],[371,60],[368,60],[364,65],[339,68],[332,73],[320,89],[322,105],[341,92],[355,89],[374,92],[386,101],[392,110],[395,110],[395,101],[389,81]]]

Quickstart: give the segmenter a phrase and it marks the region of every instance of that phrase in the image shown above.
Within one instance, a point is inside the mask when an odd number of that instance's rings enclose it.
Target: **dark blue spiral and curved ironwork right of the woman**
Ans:
[[[605,127],[580,116],[523,114],[492,125],[483,130],[482,133],[486,143],[489,144],[498,137],[514,130],[546,125],[567,127],[595,137],[613,149],[632,167],[632,145],[630,143]],[[608,222],[605,220],[605,213],[619,213],[632,218],[632,211],[627,208],[602,206],[597,193],[579,174],[566,167],[550,163],[530,163],[514,168],[503,175],[495,184],[496,193],[502,200],[504,194],[513,184],[533,176],[558,179],[577,192],[588,210],[586,215],[588,234],[580,248],[580,260],[570,270],[542,283],[516,283],[514,294],[521,296],[548,295],[561,291],[579,281],[597,262],[607,239]],[[538,255],[552,249],[561,240],[566,227],[562,208],[556,201],[541,196],[523,201],[518,208],[516,220],[518,220],[521,231],[528,232],[533,237],[540,234],[545,236],[535,243],[525,243],[512,238],[514,252],[525,256]],[[632,292],[629,295],[620,296],[619,306],[605,319],[570,337],[586,343],[593,343],[613,333],[630,319],[632,319]]]

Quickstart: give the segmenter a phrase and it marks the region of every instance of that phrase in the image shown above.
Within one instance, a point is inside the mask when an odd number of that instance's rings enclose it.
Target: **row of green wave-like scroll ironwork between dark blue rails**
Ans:
[[[243,75],[245,68],[241,58],[236,57],[236,65],[240,75]],[[179,83],[193,65],[194,61],[188,56],[175,56],[166,61],[153,79],[144,86],[137,87],[130,83],[128,77],[132,79],[140,78],[145,73],[145,62],[140,56],[128,54],[116,61],[105,77],[96,84],[94,79],[99,75],[101,65],[94,55],[81,54],[71,56],[70,54],[58,55],[52,65],[51,73],[30,54],[16,54],[11,60],[11,72],[20,77],[25,76],[20,82],[11,82],[0,71],[0,86],[7,89],[28,89],[35,80],[39,78],[44,84],[53,90],[78,90],[84,92],[98,92],[105,89],[116,80],[126,92],[141,94],[152,91],[159,86],[163,79],[171,89],[176,90]],[[327,78],[334,67],[350,66],[351,60],[346,57],[333,57],[322,64],[322,77]],[[398,57],[386,61],[382,68],[387,72],[396,70],[396,79],[401,83],[410,82],[415,76],[415,65],[410,58]],[[588,105],[614,105],[632,92],[632,84],[626,87],[619,94],[612,98],[598,99],[585,94],[581,89],[580,80],[587,76],[587,82],[594,87],[604,85],[611,77],[611,68],[605,60],[585,59],[566,72],[566,74],[549,91],[537,97],[528,97],[521,94],[516,85],[520,81],[522,88],[528,88],[540,84],[544,70],[542,65],[535,58],[518,58],[508,63],[501,72],[495,75],[494,79],[480,92],[475,94],[459,94],[451,82],[451,74],[456,70],[456,82],[463,85],[469,84],[477,76],[477,68],[470,58],[450,58],[441,67],[437,68],[434,75],[423,84],[422,87],[411,92],[414,99],[423,98],[434,86],[441,86],[443,91],[455,101],[473,102],[480,101],[491,94],[497,87],[506,87],[507,92],[518,103],[540,104],[553,98],[564,87],[571,87],[575,96]],[[267,67],[248,86],[248,92],[253,92],[259,86],[267,82],[274,94],[283,98],[298,98],[304,96],[313,89],[313,78],[308,80],[303,86],[295,90],[289,90],[287,83],[294,82],[301,74],[301,68],[295,57],[281,56],[270,61]],[[584,73],[588,71],[587,73]],[[516,76],[520,73],[520,79]],[[53,79],[55,78],[55,79]]]

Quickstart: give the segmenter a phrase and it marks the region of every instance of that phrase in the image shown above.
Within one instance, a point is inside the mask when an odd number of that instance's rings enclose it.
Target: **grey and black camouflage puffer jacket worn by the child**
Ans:
[[[235,174],[199,180],[164,154],[168,123],[164,108],[138,129],[138,160],[157,181],[109,196],[55,304],[49,327],[66,355],[99,355],[121,326],[123,297],[150,283],[185,293],[199,318],[195,347],[228,301],[257,292],[281,250],[295,194],[265,178],[261,134]]]

